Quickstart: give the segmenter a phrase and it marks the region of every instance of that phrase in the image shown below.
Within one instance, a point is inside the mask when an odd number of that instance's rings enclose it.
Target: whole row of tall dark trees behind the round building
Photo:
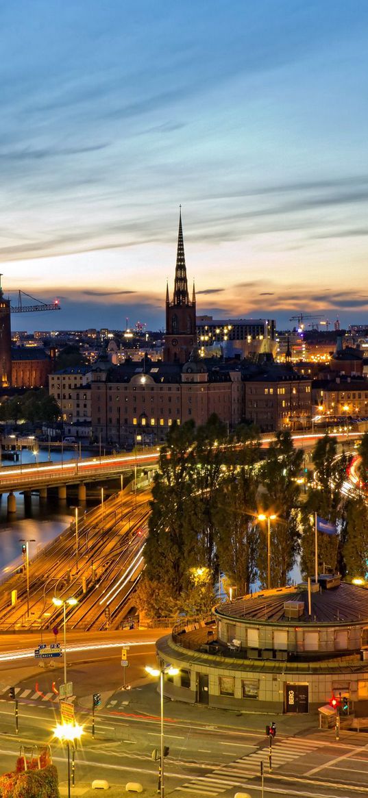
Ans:
[[[366,456],[364,452],[366,451]],[[362,479],[368,473],[368,436],[362,440]],[[312,455],[316,480],[301,496],[303,452],[289,432],[267,449],[256,430],[239,426],[230,437],[212,416],[207,424],[173,425],[160,452],[138,603],[148,614],[195,614],[214,601],[219,573],[243,595],[267,585],[267,523],[271,521],[271,586],[282,587],[297,561],[315,572],[315,512],[336,523],[338,535],[319,535],[320,567],[366,575],[368,516],[365,498],[343,492],[346,456],[333,437]],[[363,491],[362,491],[363,493]]]

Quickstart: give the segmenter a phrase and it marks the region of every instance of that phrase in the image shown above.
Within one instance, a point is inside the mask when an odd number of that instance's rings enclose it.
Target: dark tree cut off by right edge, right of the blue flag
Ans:
[[[368,508],[366,501],[349,499],[346,504],[346,540],[342,546],[348,579],[368,575]]]

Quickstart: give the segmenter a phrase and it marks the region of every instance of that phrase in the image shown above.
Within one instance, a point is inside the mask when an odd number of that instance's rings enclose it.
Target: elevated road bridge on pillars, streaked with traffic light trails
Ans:
[[[325,431],[318,433],[295,433],[293,440],[297,448],[313,448]],[[333,433],[331,433],[333,434]],[[361,437],[359,432],[336,433],[339,442],[346,443]],[[261,446],[267,448],[275,436],[261,435]],[[93,480],[108,480],[121,477],[123,472],[136,472],[137,468],[156,468],[160,456],[159,448],[143,452],[129,452],[109,456],[93,456],[85,460],[67,460],[62,463],[39,463],[2,468],[0,471],[0,494],[8,493],[8,511],[15,512],[14,492],[39,491],[46,497],[47,488],[57,488],[60,499],[66,498],[66,485],[78,486],[78,500],[85,500],[85,483]]]

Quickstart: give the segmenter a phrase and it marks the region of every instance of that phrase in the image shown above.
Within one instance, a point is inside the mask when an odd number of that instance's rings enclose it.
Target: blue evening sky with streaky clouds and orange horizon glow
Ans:
[[[366,0],[0,0],[14,330],[197,313],[368,322]]]

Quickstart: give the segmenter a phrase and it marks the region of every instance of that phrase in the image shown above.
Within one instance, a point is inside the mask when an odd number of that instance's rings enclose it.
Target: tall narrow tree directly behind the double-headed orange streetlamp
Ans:
[[[271,586],[283,587],[299,552],[299,486],[296,479],[303,452],[295,449],[291,433],[276,433],[261,469],[263,512],[279,517],[271,522]],[[259,578],[267,584],[267,539],[259,538]]]

